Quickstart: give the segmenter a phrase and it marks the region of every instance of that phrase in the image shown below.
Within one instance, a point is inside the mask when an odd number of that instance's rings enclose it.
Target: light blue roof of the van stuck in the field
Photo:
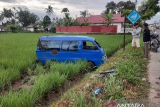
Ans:
[[[40,37],[40,40],[89,40],[94,41],[95,39],[88,36],[63,36],[63,35],[57,35],[57,36],[42,36]]]

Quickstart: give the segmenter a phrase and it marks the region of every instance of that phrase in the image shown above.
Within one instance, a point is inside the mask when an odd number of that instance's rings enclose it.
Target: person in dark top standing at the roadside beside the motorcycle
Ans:
[[[145,58],[148,58],[150,41],[151,41],[150,30],[148,28],[148,24],[144,23],[143,42],[144,42],[144,56],[145,56]]]

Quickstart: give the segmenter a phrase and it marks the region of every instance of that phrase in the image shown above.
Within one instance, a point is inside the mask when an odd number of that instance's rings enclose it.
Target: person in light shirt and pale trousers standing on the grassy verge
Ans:
[[[138,24],[133,26],[132,31],[132,47],[140,47],[141,28]]]

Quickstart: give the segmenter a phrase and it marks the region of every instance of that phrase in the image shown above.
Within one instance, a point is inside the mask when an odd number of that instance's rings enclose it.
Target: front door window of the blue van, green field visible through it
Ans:
[[[98,47],[90,41],[83,41],[83,49],[84,50],[98,50]]]

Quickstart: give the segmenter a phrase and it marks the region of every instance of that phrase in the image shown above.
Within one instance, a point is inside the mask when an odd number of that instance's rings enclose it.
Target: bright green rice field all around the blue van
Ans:
[[[2,107],[33,107],[44,94],[62,86],[65,80],[86,72],[86,62],[77,62],[77,64],[51,62],[46,66],[35,64],[36,44],[41,35],[55,34],[0,34],[0,90],[20,79],[23,73],[27,73],[32,78],[30,88],[22,88],[19,91],[10,90],[8,94],[0,96]],[[108,56],[123,45],[122,36],[91,36],[97,39]],[[128,36],[126,41],[131,41],[131,37]],[[95,99],[92,100],[95,101]]]

